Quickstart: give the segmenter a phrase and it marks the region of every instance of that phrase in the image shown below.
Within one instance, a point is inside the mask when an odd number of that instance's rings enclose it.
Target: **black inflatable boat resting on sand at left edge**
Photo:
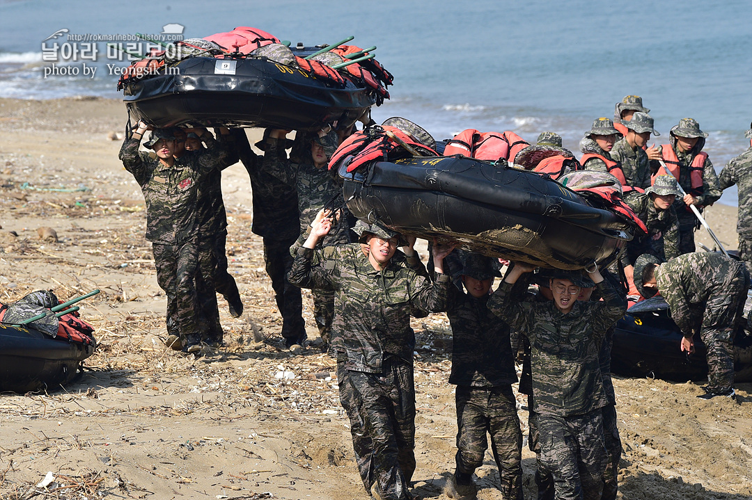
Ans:
[[[0,324],[0,391],[55,390],[80,375],[95,344],[51,339],[33,328]]]

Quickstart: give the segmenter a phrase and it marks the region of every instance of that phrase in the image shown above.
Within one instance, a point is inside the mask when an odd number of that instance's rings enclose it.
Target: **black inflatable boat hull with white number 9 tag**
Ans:
[[[156,127],[193,122],[310,130],[335,121],[348,126],[376,102],[370,89],[347,78],[337,86],[266,58],[190,57],[162,72],[123,88],[131,115]]]

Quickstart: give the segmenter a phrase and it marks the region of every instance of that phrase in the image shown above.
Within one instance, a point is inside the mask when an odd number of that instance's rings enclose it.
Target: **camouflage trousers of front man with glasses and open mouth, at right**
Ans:
[[[538,432],[556,499],[600,500],[608,462],[601,409],[571,417],[538,414]]]

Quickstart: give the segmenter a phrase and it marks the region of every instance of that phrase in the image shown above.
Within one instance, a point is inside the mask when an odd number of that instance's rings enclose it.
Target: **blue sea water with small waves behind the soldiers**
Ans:
[[[65,41],[50,38],[62,29],[106,38],[180,24],[185,38],[200,38],[253,26],[307,45],[355,35],[353,44],[378,46],[395,75],[392,98],[372,113],[377,122],[405,116],[439,139],[464,128],[512,130],[529,141],[556,131],[577,152],[593,119],[613,117],[614,104],[634,94],[661,133],[651,143],[666,143],[691,116],[710,134],[705,151],[720,170],[749,146],[750,20],[747,0],[0,0],[0,97],[120,96],[116,71],[129,63],[102,54],[45,77],[43,44]],[[66,64],[86,64],[89,74],[60,74]],[[735,204],[735,188],[721,201]]]

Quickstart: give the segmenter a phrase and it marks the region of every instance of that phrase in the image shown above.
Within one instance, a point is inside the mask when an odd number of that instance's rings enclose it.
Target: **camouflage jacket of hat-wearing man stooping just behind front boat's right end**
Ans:
[[[626,244],[626,252],[622,255],[622,264],[632,266],[642,254],[655,255],[663,261],[679,255],[679,221],[674,206],[666,210],[656,209],[650,194],[630,191],[624,197],[624,203],[635,212],[635,215],[647,226],[647,236],[632,239]],[[653,235],[661,233],[660,242],[653,239]]]

